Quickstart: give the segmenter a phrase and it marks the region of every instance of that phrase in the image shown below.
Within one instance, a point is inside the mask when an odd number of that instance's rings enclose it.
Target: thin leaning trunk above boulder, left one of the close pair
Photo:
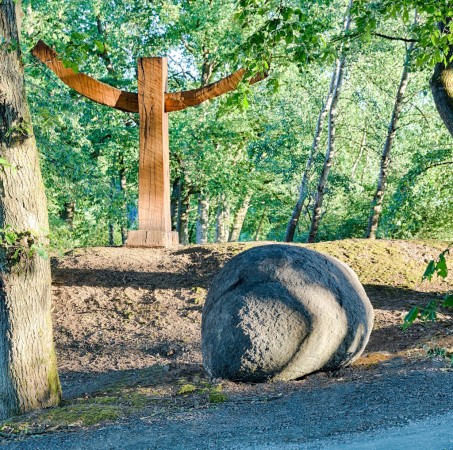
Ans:
[[[288,222],[286,228],[285,242],[293,242],[294,235],[296,234],[297,224],[299,223],[302,208],[308,195],[308,180],[310,177],[311,167],[315,160],[315,156],[318,153],[319,143],[321,141],[321,134],[324,128],[324,122],[327,116],[327,112],[330,111],[332,105],[333,94],[335,89],[337,69],[335,68],[332,74],[332,79],[329,87],[329,94],[322,105],[321,111],[319,112],[318,121],[316,123],[315,135],[313,138],[313,144],[311,146],[310,154],[308,155],[307,163],[305,165],[305,171],[302,176],[302,181],[299,188],[299,198],[297,199],[296,206],[294,207],[291,219]]]

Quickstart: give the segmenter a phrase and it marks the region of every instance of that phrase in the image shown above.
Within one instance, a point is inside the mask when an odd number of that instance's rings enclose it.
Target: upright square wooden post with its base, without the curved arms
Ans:
[[[171,247],[178,244],[178,234],[171,231],[166,85],[166,58],[139,59],[139,229],[129,232],[127,245],[130,247]]]

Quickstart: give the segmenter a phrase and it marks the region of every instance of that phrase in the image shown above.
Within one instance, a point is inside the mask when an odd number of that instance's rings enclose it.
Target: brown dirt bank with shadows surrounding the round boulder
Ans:
[[[364,355],[340,372],[289,383],[209,380],[200,346],[207,289],[225,262],[254,245],[263,243],[90,248],[53,259],[53,319],[65,403],[0,423],[0,439],[86,429],[143,411],[158,420],[226,401],[270,401],[301,388],[365,385],[387,372],[448,370],[442,356],[453,352],[451,313],[441,311],[435,324],[401,330],[412,306],[451,289],[451,280],[420,283],[427,262],[445,243],[346,240],[311,247],[349,264],[364,284],[375,309]]]

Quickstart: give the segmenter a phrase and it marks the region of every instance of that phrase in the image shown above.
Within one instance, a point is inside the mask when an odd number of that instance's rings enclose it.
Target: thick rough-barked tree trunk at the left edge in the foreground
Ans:
[[[50,263],[34,253],[47,245],[48,219],[38,152],[28,110],[19,35],[21,2],[0,2],[0,227],[24,249],[0,244],[0,420],[61,400],[53,344]]]

